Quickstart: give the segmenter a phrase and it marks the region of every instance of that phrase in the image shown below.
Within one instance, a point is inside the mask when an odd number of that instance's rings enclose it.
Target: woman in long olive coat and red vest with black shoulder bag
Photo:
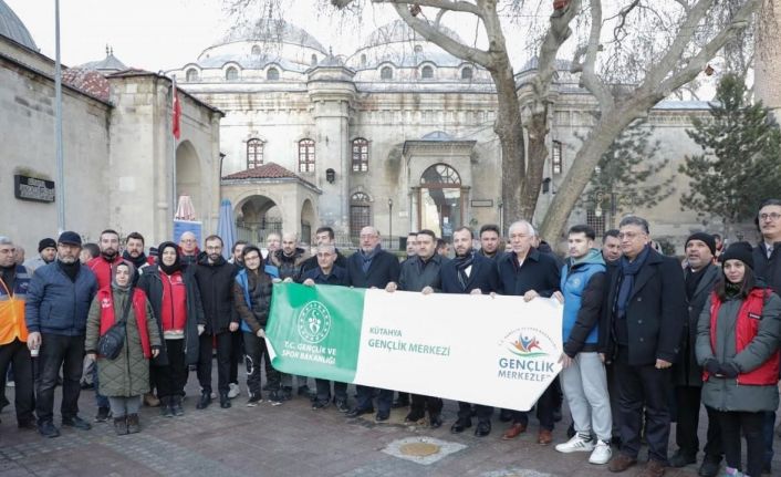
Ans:
[[[117,435],[140,431],[138,408],[140,396],[149,392],[149,360],[160,349],[152,305],[146,294],[133,287],[134,276],[132,263],[117,263],[111,284],[95,295],[86,322],[85,349],[90,357],[97,357],[98,391],[108,397]],[[113,360],[97,354],[100,338],[123,319],[125,340],[119,354]]]

